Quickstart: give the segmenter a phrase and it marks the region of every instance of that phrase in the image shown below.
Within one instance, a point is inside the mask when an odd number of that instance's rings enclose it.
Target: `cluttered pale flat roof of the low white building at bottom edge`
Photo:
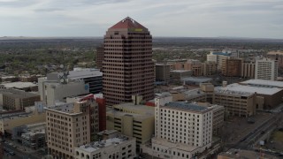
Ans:
[[[86,145],[82,145],[79,148],[75,148],[75,149],[80,149],[82,151],[88,152],[88,153],[92,153],[95,152],[99,149],[103,149],[106,147],[111,147],[111,146],[117,146],[123,142],[126,142],[128,140],[134,140],[133,138],[129,138],[126,136],[120,136],[118,138],[111,138],[108,140],[101,140],[101,141],[96,141],[96,142],[92,142]]]

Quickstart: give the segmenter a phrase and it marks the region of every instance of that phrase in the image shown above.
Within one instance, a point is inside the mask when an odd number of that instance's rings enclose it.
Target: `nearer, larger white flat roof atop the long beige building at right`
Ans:
[[[283,88],[278,87],[256,87],[249,85],[240,85],[238,83],[233,83],[227,85],[226,87],[215,87],[215,90],[218,93],[224,94],[238,94],[238,95],[252,95],[252,94],[261,94],[261,95],[274,95],[279,91],[282,91]]]

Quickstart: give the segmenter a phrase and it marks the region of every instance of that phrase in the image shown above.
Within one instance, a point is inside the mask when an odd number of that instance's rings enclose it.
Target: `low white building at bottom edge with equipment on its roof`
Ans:
[[[75,148],[75,159],[133,159],[135,138],[119,136]]]

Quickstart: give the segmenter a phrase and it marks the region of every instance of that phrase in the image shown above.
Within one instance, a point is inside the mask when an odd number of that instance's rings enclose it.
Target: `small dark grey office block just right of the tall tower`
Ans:
[[[170,79],[170,64],[156,64],[156,81],[168,82]]]

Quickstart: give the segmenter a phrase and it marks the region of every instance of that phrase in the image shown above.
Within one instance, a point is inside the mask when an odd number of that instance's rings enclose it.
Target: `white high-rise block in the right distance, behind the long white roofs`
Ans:
[[[256,60],[255,79],[277,80],[278,64],[275,60],[263,58]]]

